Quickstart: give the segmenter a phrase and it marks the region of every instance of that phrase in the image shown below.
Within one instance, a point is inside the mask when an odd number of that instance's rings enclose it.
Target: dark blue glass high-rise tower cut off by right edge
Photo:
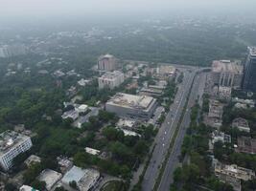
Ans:
[[[245,91],[256,93],[256,47],[248,47],[243,87]]]

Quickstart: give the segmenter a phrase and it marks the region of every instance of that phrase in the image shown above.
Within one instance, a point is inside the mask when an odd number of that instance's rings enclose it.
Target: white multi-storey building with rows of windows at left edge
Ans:
[[[0,166],[8,171],[12,167],[12,159],[28,151],[32,147],[31,138],[13,131],[0,134]]]

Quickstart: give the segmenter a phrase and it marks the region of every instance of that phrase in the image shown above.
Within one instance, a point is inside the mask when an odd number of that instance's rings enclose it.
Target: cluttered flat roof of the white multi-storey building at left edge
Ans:
[[[0,156],[9,152],[13,147],[17,146],[28,138],[30,137],[10,130],[0,134]]]

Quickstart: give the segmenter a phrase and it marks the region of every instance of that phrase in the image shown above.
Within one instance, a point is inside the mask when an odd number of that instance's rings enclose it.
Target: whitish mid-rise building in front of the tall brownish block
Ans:
[[[101,77],[98,77],[100,89],[107,87],[112,90],[120,86],[124,81],[125,75],[119,71],[107,72],[103,74]]]

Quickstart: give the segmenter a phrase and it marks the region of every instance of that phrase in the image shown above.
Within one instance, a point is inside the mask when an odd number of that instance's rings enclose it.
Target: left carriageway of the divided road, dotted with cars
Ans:
[[[155,138],[156,146],[153,150],[150,164],[146,170],[144,180],[142,181],[143,191],[151,191],[154,187],[155,180],[158,177],[162,162],[168,153],[169,145],[175,134],[175,128],[177,127],[179,118],[182,115],[182,110],[185,107],[190,88],[193,85],[193,78],[195,77],[197,71],[195,68],[190,70],[180,70],[183,71],[184,74],[183,82],[178,86],[178,91],[175,95],[174,103],[170,107],[170,112],[167,114],[166,120],[162,124]],[[181,142],[182,138],[180,140],[180,145]],[[169,190],[169,186],[163,190]]]

